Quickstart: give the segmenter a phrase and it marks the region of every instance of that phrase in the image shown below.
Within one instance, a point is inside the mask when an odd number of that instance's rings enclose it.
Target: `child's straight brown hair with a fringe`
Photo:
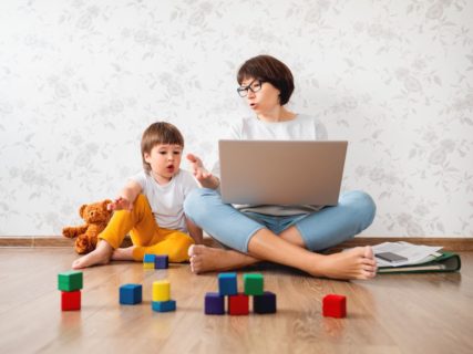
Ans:
[[[151,171],[151,165],[145,162],[144,154],[150,154],[153,147],[160,144],[179,145],[184,148],[184,137],[174,125],[167,122],[156,122],[144,131],[142,136],[143,168]]]

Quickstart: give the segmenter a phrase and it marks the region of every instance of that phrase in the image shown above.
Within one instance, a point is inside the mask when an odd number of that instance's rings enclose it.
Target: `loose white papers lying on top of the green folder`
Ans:
[[[442,256],[442,253],[439,253],[442,247],[412,244],[403,241],[383,242],[373,246],[372,249],[378,267],[402,267],[420,264],[432,261]],[[383,259],[377,257],[377,254]],[[387,260],[389,258],[391,258],[391,261]]]

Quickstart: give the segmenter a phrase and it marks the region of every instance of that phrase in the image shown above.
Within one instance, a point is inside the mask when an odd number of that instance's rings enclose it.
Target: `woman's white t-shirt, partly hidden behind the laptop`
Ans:
[[[269,123],[256,117],[243,118],[230,128],[227,138],[236,140],[327,140],[327,128],[316,117],[298,114],[287,122]],[[220,164],[216,162],[212,173],[220,176]],[[236,205],[241,211],[254,211],[274,216],[289,216],[312,212],[320,206],[243,206]]]

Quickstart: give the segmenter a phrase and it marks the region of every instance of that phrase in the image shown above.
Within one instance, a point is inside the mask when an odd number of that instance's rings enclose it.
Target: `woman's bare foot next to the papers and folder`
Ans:
[[[377,261],[371,247],[357,247],[345,252],[322,256],[316,261],[310,273],[333,279],[372,279],[377,274]]]

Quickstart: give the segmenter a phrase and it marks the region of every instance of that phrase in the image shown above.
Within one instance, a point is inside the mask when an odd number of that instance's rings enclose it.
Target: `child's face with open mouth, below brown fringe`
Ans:
[[[157,181],[165,183],[179,170],[182,154],[183,147],[179,145],[158,144],[153,146],[150,154],[144,154],[144,159]]]

